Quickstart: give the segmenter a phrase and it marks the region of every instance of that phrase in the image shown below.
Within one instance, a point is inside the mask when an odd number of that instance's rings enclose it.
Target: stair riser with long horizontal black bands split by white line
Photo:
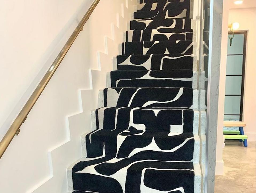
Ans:
[[[135,73],[136,72],[136,73]],[[197,72],[189,77],[172,77],[171,72],[157,72],[160,78],[157,78],[155,72],[135,71],[127,72],[112,71],[107,73],[107,87],[187,87],[197,88]],[[176,73],[176,72],[175,72]],[[146,76],[148,77],[146,77]],[[183,74],[184,75],[184,74]],[[164,78],[163,78],[164,77]]]

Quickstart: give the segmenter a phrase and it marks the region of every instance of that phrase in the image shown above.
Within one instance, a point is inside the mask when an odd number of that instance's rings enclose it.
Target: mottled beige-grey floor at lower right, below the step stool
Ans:
[[[215,177],[215,193],[256,193],[256,142],[243,147],[237,141],[225,141],[224,175]]]

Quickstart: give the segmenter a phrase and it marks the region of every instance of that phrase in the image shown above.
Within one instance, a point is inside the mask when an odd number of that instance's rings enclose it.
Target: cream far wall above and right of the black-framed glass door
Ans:
[[[247,32],[247,48],[245,63],[245,90],[243,101],[243,121],[246,123],[245,134],[248,141],[256,141],[256,8],[230,9],[229,23],[238,22],[238,30]],[[249,143],[250,145],[250,143]]]

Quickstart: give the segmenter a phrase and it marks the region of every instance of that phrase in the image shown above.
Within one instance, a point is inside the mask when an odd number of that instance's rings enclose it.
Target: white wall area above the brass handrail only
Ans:
[[[92,1],[1,1],[0,139]]]

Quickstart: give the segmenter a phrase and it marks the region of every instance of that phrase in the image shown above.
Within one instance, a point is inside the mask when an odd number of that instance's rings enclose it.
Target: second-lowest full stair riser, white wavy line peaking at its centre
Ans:
[[[138,132],[138,130],[135,130]],[[100,156],[136,159],[146,159],[148,153],[152,157],[148,159],[161,159],[166,161],[191,161],[199,162],[200,140],[199,137],[168,136],[169,131],[145,131],[132,134],[128,130],[116,129],[95,130],[85,136],[86,157]],[[131,134],[129,136],[125,136]],[[172,133],[177,135],[178,133]],[[184,134],[184,133],[183,133]],[[179,135],[178,135],[179,136]],[[83,140],[84,142],[84,140]],[[157,145],[152,145],[157,144]],[[177,150],[174,150],[178,148]],[[193,155],[195,148],[196,154]]]

